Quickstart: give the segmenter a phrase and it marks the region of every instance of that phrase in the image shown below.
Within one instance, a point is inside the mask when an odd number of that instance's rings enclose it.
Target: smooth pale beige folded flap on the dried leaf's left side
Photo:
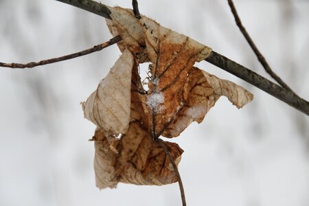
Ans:
[[[131,72],[134,65],[131,52],[124,51],[98,89],[83,104],[84,117],[110,135],[126,133],[128,130]]]

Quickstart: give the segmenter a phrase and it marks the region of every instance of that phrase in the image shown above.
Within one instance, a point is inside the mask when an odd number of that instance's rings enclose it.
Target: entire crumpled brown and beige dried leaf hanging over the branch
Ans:
[[[176,172],[155,139],[176,137],[192,122],[202,122],[221,95],[238,108],[253,95],[193,67],[209,56],[209,47],[146,16],[137,19],[132,10],[109,9],[112,20],[106,22],[113,36],[122,36],[118,46],[123,54],[84,103],[85,117],[98,126],[93,137],[96,184],[102,189],[119,182],[174,183]],[[152,62],[148,93],[140,93],[137,62]],[[178,164],[183,150],[166,145]]]

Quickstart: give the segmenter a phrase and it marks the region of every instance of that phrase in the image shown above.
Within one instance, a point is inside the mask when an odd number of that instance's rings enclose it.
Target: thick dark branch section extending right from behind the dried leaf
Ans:
[[[266,93],[273,95],[275,98],[286,102],[286,104],[297,108],[302,113],[309,115],[309,102],[299,98],[299,96],[295,95],[293,91],[280,87],[270,80],[260,76],[258,73],[255,73],[254,71],[251,71],[214,51],[211,52],[206,61],[238,76],[242,80],[245,80],[246,82],[253,84],[255,87],[262,89]]]

